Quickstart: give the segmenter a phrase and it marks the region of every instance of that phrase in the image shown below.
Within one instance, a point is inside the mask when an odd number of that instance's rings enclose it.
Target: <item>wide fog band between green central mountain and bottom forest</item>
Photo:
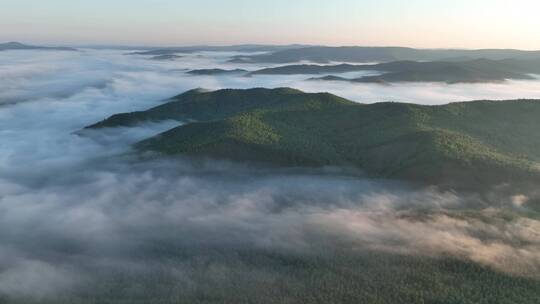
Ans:
[[[474,196],[316,172],[254,178],[251,170],[213,161],[94,163],[45,185],[19,186],[0,199],[0,239],[14,248],[0,260],[0,292],[81,292],[69,278],[95,286],[108,279],[105,269],[141,278],[172,267],[189,281],[209,269],[191,265],[195,257],[165,257],[212,256],[218,248],[300,256],[342,248],[451,256],[515,275],[540,270],[540,222],[484,208],[472,217],[451,211],[478,208]],[[32,287],[44,279],[53,283]]]

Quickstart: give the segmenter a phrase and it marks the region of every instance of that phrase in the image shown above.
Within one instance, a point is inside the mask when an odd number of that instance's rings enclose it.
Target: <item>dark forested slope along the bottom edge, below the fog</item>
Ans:
[[[513,276],[455,258],[328,249],[281,253],[230,248],[175,248],[162,244],[163,267],[152,275],[98,272],[89,292],[14,304],[537,304],[540,281]],[[330,247],[333,248],[333,247]],[[315,249],[314,249],[315,250]],[[358,252],[360,251],[360,252]],[[138,253],[141,255],[140,253]],[[145,265],[145,256],[141,264]],[[189,277],[179,279],[178,268]],[[167,267],[165,267],[167,266]],[[137,273],[137,272],[135,272]],[[108,275],[108,276],[107,276]],[[183,278],[183,277],[182,277]]]

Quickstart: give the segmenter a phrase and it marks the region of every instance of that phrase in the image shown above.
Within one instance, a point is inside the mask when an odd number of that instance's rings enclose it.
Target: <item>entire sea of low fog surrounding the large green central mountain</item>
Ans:
[[[156,244],[297,254],[339,244],[351,252],[452,255],[511,274],[540,270],[540,222],[505,221],[476,195],[331,170],[259,172],[210,160],[141,163],[126,155],[131,143],[178,125],[172,121],[73,134],[195,87],[291,86],[358,102],[440,104],[537,97],[540,81],[379,86],[306,82],[302,75],[187,76],[186,69],[262,66],[225,63],[231,54],[152,61],[123,53],[0,53],[0,296],[78,292],[102,278],[100,269],[148,275],[165,264],[178,284],[189,284],[190,270],[164,262]],[[493,220],[444,211],[462,206],[483,208]],[[434,211],[418,218],[411,214],[417,208]]]

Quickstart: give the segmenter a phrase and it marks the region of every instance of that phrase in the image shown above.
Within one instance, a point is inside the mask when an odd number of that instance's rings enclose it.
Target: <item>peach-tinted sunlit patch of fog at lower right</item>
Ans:
[[[482,213],[487,211],[482,211]],[[540,270],[540,222],[495,222],[433,214],[425,219],[400,212],[339,210],[315,220],[336,237],[359,246],[401,254],[465,258],[503,272],[536,276]]]

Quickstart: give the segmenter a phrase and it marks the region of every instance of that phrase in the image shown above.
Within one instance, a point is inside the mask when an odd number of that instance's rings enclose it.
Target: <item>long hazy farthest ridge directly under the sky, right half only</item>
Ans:
[[[507,58],[540,58],[540,51],[521,51],[505,49],[458,50],[458,49],[413,49],[404,47],[325,47],[310,46],[275,51],[270,54],[235,56],[235,63],[291,63],[311,61],[329,62],[390,62],[402,60],[501,60]]]

